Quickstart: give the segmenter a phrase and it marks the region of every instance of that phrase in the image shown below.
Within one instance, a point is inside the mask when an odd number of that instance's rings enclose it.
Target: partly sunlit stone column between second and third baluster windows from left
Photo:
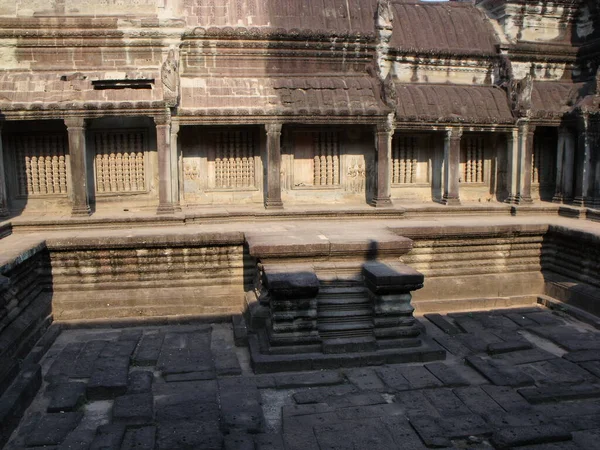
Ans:
[[[154,117],[156,150],[158,152],[158,209],[156,214],[173,214],[173,186],[171,177],[171,120],[168,116]]]

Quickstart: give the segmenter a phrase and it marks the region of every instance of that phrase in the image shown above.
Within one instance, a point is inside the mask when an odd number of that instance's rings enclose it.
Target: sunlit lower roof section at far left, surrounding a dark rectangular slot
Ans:
[[[0,109],[23,105],[40,105],[44,109],[63,109],[73,104],[135,103],[163,100],[162,82],[158,72],[131,72],[110,74],[86,72],[61,75],[56,72],[3,72],[0,73]],[[61,79],[63,76],[63,79]],[[96,90],[94,80],[154,79],[151,89]],[[18,109],[18,108],[17,108]]]

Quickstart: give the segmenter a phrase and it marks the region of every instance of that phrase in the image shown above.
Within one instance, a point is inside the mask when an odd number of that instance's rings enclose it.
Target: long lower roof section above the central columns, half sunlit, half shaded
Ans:
[[[181,110],[206,115],[381,115],[368,76],[182,79]]]

